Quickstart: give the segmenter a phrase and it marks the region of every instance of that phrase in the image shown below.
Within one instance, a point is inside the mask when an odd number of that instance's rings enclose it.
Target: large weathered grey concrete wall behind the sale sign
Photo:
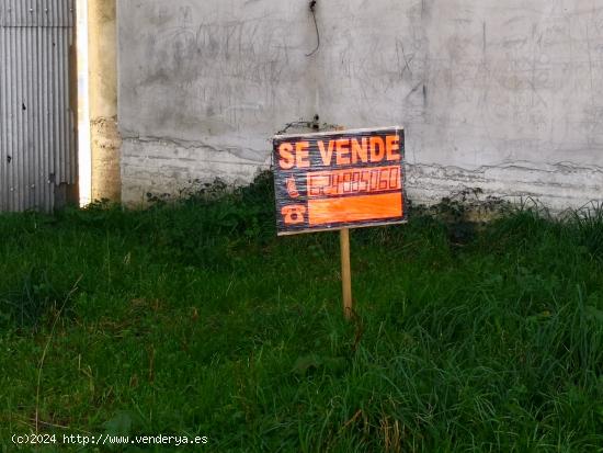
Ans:
[[[554,208],[601,199],[603,3],[120,0],[123,197],[270,165],[320,115],[401,124],[411,199],[463,188]]]

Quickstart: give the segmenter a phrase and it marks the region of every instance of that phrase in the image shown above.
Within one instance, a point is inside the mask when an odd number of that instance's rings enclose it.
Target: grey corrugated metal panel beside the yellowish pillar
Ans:
[[[73,0],[0,0],[0,211],[50,211],[77,183]]]

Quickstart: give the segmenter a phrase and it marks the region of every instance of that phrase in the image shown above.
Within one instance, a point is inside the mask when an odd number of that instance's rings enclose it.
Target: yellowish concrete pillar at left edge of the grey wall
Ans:
[[[92,200],[121,200],[115,0],[89,0]]]

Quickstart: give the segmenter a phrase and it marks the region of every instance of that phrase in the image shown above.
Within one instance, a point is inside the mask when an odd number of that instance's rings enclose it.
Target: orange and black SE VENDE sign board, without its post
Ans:
[[[401,127],[274,137],[278,235],[402,223]]]

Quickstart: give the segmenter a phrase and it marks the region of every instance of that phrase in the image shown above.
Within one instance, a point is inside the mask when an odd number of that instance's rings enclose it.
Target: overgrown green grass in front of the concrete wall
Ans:
[[[269,188],[0,216],[2,451],[36,429],[220,452],[603,451],[601,209],[520,207],[463,240],[418,209],[354,230],[346,322],[337,234],[276,238]]]

